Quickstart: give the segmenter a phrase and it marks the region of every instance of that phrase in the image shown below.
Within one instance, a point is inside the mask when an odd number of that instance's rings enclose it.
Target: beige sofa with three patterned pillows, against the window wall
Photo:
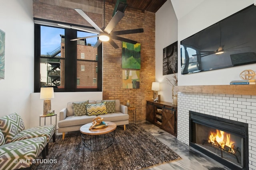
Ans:
[[[91,123],[97,116],[104,118],[103,121],[124,125],[124,130],[129,124],[128,107],[120,104],[120,100],[68,102],[67,107],[60,111],[58,132],[64,139],[66,132],[79,131],[82,125]]]

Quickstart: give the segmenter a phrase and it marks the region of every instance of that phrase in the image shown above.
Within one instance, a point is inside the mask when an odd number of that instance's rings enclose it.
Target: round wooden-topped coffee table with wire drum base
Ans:
[[[102,129],[91,129],[92,123],[87,123],[80,127],[82,133],[82,143],[89,150],[104,150],[112,145],[115,139],[116,124],[110,121],[105,121],[108,125]]]

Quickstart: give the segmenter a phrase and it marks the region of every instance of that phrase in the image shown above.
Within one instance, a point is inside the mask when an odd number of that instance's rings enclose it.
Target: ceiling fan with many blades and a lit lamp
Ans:
[[[63,27],[72,28],[72,29],[77,29],[77,30],[80,30],[80,31],[86,31],[86,32],[90,32],[90,33],[95,33],[97,35],[76,38],[76,39],[72,39],[71,41],[76,41],[76,40],[86,39],[86,38],[92,38],[92,37],[99,37],[98,41],[94,45],[94,48],[98,47],[100,45],[100,43],[102,43],[102,41],[108,41],[115,49],[117,49],[118,45],[113,41],[113,39],[116,39],[116,40],[119,40],[119,41],[124,41],[124,42],[127,42],[127,43],[132,43],[132,44],[136,44],[137,43],[137,41],[134,41],[134,40],[131,40],[131,39],[126,39],[124,37],[119,37],[117,35],[125,35],[125,34],[143,33],[144,32],[143,28],[128,29],[128,30],[122,30],[122,31],[112,31],[114,29],[114,27],[116,27],[118,22],[120,20],[122,20],[122,18],[124,17],[124,13],[122,13],[120,11],[116,12],[116,14],[113,16],[113,18],[109,21],[108,25],[105,27],[105,2],[104,2],[104,27],[103,28],[98,27],[98,25],[96,23],[94,23],[94,21],[92,21],[89,18],[89,16],[87,16],[84,13],[83,10],[81,10],[81,9],[75,9],[75,10],[86,21],[88,21],[88,23],[90,23],[96,29],[96,31],[94,31],[92,29],[80,29],[80,28],[77,28],[77,27],[63,25],[63,24],[58,24],[58,25],[63,26]]]

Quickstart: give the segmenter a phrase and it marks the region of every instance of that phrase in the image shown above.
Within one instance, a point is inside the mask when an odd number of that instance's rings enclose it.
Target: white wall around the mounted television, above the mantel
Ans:
[[[202,29],[250,6],[254,0],[204,0],[196,8],[178,20],[178,49],[180,41]],[[186,4],[189,5],[189,4]],[[178,50],[178,70],[180,70],[180,51]],[[224,68],[181,75],[178,73],[178,85],[222,85],[231,80],[239,80],[243,70],[255,69],[256,64]]]

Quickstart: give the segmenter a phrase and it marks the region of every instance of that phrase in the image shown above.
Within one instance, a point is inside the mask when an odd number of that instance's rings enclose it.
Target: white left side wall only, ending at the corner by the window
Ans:
[[[0,29],[5,32],[5,78],[0,80],[0,116],[19,113],[30,122],[34,89],[32,0],[0,0]]]

